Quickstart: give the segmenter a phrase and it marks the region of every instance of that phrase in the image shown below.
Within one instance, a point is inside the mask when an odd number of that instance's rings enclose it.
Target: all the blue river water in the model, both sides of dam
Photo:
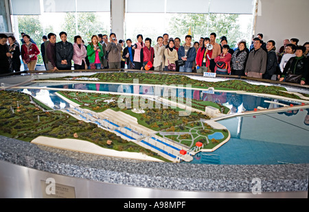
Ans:
[[[111,93],[136,93],[158,95],[155,86],[128,84],[93,84],[37,82],[21,89],[53,109],[69,108],[70,104],[55,95],[57,89],[78,89],[83,91],[103,91]],[[45,89],[31,89],[44,87]],[[48,88],[48,89],[46,89]],[[159,95],[165,95],[164,89]],[[195,89],[170,89],[169,95],[189,97],[216,102],[231,110],[230,114],[252,111],[255,108],[276,108],[299,102],[245,95],[239,93],[211,93]],[[271,103],[274,102],[274,103]],[[199,152],[190,163],[258,165],[280,163],[309,163],[309,109],[288,110],[280,113],[239,116],[222,119],[218,123],[231,132],[229,142],[214,152]],[[214,134],[215,138],[220,134]],[[211,139],[211,138],[209,138]]]

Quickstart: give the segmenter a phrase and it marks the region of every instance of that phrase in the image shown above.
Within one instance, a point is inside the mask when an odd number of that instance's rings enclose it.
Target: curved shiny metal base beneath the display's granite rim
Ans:
[[[176,191],[85,180],[0,161],[0,198],[307,198],[298,192]]]

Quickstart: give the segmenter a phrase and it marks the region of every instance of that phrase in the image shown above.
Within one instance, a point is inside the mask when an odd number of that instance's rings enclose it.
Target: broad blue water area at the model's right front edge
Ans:
[[[309,163],[309,109],[218,121],[231,139],[214,152],[200,152],[190,163],[262,165]]]

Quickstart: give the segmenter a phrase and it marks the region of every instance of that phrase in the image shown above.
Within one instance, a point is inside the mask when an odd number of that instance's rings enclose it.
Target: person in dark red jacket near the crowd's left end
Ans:
[[[29,71],[34,71],[36,69],[36,62],[38,62],[37,55],[40,54],[40,50],[38,50],[34,43],[30,42],[29,35],[25,34],[23,41],[25,43],[21,46],[21,58],[27,64]]]

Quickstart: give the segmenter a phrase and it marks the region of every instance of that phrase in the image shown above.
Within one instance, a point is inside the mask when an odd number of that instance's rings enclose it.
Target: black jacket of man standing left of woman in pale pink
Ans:
[[[56,66],[58,69],[71,69],[73,58],[73,45],[62,41],[56,43]],[[61,64],[61,60],[67,60],[67,64]]]

